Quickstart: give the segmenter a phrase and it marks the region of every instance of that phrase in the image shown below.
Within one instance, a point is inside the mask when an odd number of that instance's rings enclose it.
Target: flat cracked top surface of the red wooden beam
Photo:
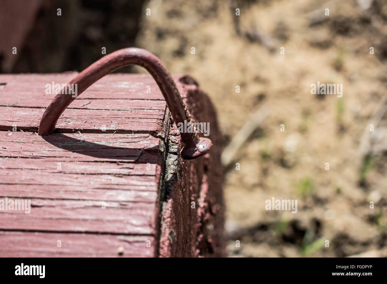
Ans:
[[[151,76],[108,75],[66,109],[60,133],[36,135],[54,97],[45,85],[76,74],[0,75],[0,199],[31,200],[28,214],[0,210],[0,256],[157,256],[164,97]]]

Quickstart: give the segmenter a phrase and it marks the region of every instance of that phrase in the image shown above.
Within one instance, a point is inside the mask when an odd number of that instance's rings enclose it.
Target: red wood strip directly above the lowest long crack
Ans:
[[[103,206],[106,206],[104,208]],[[104,202],[31,199],[31,213],[0,211],[0,228],[21,231],[65,231],[155,234],[155,202]]]

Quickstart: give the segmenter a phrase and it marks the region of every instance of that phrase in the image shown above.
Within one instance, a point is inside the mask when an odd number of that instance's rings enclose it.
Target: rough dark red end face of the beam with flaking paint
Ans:
[[[180,143],[180,137],[176,135],[176,125],[171,129],[169,141],[172,146],[169,147],[169,158],[166,158],[167,163],[171,163],[166,165],[164,174],[164,179],[170,181],[170,187],[161,216],[160,256],[224,257],[221,134],[216,112],[197,85],[188,85],[186,104],[195,121],[210,122],[209,138],[216,146],[197,160],[177,160],[173,149]],[[195,209],[191,208],[192,201],[195,202]],[[178,232],[173,239],[171,231]]]

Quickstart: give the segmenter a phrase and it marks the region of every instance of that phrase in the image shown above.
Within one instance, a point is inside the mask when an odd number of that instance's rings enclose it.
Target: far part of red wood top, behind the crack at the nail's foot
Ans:
[[[44,109],[55,94],[46,94],[46,84],[65,84],[76,72],[45,75],[0,75],[0,130],[13,125],[23,130],[39,126]],[[175,75],[183,97],[188,88]],[[130,79],[129,79],[130,78]],[[130,131],[157,133],[164,119],[166,102],[154,79],[141,74],[111,74],[91,85],[63,112],[58,132]],[[100,130],[101,131],[101,130]]]

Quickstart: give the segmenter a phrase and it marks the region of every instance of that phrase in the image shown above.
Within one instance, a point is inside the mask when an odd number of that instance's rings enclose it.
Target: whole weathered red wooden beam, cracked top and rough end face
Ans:
[[[46,84],[76,75],[0,75],[0,201],[31,200],[28,214],[0,210],[0,257],[223,256],[220,134],[208,97],[173,75],[193,116],[211,122],[211,153],[194,161],[178,155],[180,136],[149,75],[102,78],[56,133],[36,135],[54,97]]]

